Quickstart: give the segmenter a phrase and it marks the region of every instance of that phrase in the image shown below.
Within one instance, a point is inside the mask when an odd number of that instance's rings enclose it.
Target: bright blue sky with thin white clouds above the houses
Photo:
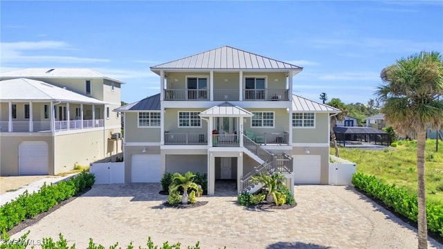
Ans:
[[[1,71],[93,68],[159,93],[150,66],[220,46],[303,66],[294,93],[367,103],[381,69],[443,53],[443,1],[1,1]]]

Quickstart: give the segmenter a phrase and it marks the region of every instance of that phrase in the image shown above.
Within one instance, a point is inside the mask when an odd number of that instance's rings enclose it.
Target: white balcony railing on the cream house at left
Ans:
[[[89,129],[94,127],[104,127],[104,120],[69,120],[69,129],[68,129],[68,121],[55,121],[54,122],[54,131],[68,131],[68,130],[76,130],[76,129]],[[29,126],[32,125],[32,132],[51,132],[51,121],[12,121],[11,132],[30,132]],[[9,131],[9,122],[8,121],[0,121],[0,132],[8,132]]]

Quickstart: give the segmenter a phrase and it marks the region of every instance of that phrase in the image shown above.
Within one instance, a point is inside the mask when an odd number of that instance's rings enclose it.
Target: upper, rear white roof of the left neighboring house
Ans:
[[[28,78],[28,79],[45,79],[45,78],[89,78],[89,79],[106,79],[120,84],[125,84],[120,80],[98,73],[89,68],[26,68],[16,71],[0,73],[0,79],[14,79],[14,78]]]

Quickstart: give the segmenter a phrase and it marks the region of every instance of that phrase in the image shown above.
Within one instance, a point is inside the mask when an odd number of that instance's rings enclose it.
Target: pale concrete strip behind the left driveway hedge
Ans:
[[[37,192],[40,190],[40,188],[46,183],[46,185],[51,185],[51,183],[58,183],[59,181],[64,181],[66,179],[69,179],[75,175],[75,174],[68,174],[66,176],[59,176],[59,177],[48,177],[48,178],[42,178],[38,181],[35,181],[33,183],[30,183],[28,185],[25,185],[18,190],[12,191],[12,192],[6,192],[4,194],[0,194],[0,207],[2,205],[5,205],[6,203],[10,201],[14,201],[19,197],[21,194],[23,194],[26,190],[28,190],[28,193]]]

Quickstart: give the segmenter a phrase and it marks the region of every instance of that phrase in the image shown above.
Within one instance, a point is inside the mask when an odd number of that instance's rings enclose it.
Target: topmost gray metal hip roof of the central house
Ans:
[[[253,69],[253,70],[285,70],[302,71],[295,66],[276,59],[256,55],[230,46],[222,46],[183,59],[152,66],[151,70],[159,73],[160,69]]]

